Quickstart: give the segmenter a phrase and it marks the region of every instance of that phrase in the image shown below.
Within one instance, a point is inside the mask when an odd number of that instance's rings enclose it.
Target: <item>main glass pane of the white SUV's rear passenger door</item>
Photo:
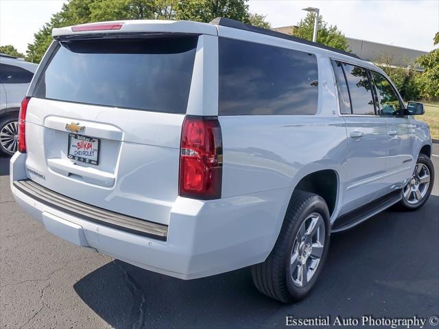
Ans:
[[[375,114],[368,74],[359,66],[343,64],[348,82],[353,114]]]

